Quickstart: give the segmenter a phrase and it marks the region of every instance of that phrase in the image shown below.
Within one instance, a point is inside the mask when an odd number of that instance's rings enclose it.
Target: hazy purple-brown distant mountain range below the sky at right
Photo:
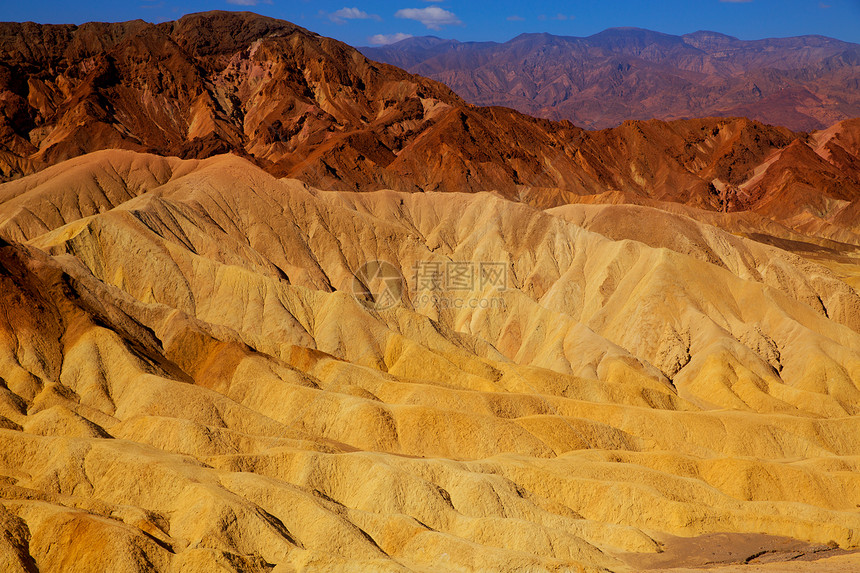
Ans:
[[[479,105],[590,129],[628,119],[744,116],[795,130],[860,116],[860,45],[822,36],[743,41],[612,28],[586,38],[409,38],[362,48]]]

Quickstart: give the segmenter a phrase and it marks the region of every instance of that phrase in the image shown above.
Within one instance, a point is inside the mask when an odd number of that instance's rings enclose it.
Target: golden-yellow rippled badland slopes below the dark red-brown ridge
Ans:
[[[0,187],[7,569],[860,543],[860,299],[832,265],[647,208],[108,153]],[[407,283],[386,310],[352,294],[377,259]],[[425,304],[413,269],[450,261],[504,263],[446,294],[503,308]]]

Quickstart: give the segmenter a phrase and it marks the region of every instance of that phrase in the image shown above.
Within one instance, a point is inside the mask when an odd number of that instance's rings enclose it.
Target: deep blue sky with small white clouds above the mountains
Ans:
[[[505,41],[523,32],[588,36],[614,26],[670,34],[714,30],[742,39],[822,34],[860,43],[860,0],[4,0],[0,20],[161,22],[215,9],[290,20],[356,46],[408,35],[462,41]]]

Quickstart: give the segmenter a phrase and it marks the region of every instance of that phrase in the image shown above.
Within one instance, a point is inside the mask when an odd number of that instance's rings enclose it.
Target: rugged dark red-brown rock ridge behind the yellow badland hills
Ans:
[[[804,213],[839,216],[860,196],[858,178],[840,175],[860,164],[856,121],[814,135],[740,118],[589,132],[469,105],[442,84],[250,13],[2,26],[7,178],[123,148],[183,158],[233,152],[325,189],[496,191],[544,207],[610,193],[754,209],[792,224]],[[648,61],[698,49],[634,36]],[[627,33],[602,38],[607,53],[628,49]],[[818,44],[816,54],[835,45]],[[831,199],[843,203],[822,207]]]

